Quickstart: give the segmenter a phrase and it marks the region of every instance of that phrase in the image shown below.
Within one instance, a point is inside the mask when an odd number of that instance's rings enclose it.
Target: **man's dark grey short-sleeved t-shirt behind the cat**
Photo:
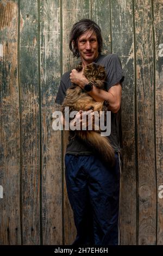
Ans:
[[[109,90],[112,86],[117,83],[121,83],[124,80],[122,74],[122,66],[120,59],[116,54],[108,54],[107,56],[99,54],[98,57],[93,61],[97,64],[103,65],[106,71],[105,88]],[[61,77],[60,86],[58,89],[57,97],[55,99],[56,103],[60,105],[64,101],[66,90],[71,86],[70,80],[71,71],[66,72]],[[94,154],[92,150],[77,136],[74,138],[74,131],[70,131],[70,136],[68,139],[68,145],[66,149],[66,154],[73,155],[90,155]],[[121,152],[121,109],[117,113],[111,112],[111,134],[108,136],[109,141],[114,148],[115,152]]]

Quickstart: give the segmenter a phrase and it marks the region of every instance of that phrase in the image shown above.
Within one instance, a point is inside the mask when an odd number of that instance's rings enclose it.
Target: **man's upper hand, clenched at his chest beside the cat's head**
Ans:
[[[89,81],[84,76],[84,71],[78,72],[76,69],[73,69],[70,73],[70,80],[72,83],[77,84],[82,89],[84,88],[85,84],[89,83]]]

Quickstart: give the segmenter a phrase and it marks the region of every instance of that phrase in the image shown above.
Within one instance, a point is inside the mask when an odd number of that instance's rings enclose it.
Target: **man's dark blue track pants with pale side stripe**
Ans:
[[[72,245],[120,244],[121,160],[114,168],[94,155],[65,155],[68,199],[77,237]]]

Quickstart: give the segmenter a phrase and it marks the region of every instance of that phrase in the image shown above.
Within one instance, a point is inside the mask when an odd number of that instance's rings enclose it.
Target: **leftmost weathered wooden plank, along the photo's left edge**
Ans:
[[[0,244],[21,245],[17,1],[1,1],[0,17]]]

